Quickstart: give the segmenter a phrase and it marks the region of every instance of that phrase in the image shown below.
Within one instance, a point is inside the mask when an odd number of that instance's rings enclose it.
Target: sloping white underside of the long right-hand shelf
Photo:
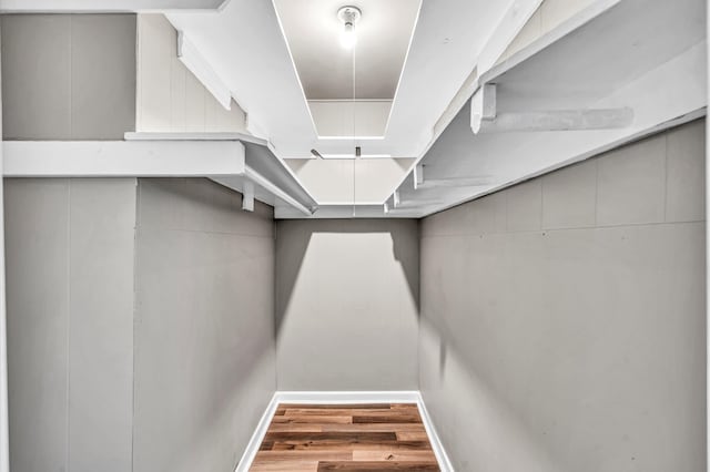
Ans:
[[[630,107],[631,124],[476,135],[467,102],[419,162],[416,188],[414,172],[402,182],[389,216],[425,216],[704,115],[704,18],[702,0],[623,0],[532,42],[479,82],[496,84],[498,112]]]

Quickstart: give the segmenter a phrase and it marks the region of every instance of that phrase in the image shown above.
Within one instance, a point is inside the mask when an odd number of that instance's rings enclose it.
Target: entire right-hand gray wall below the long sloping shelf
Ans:
[[[457,471],[706,470],[703,126],[423,222],[420,388]]]

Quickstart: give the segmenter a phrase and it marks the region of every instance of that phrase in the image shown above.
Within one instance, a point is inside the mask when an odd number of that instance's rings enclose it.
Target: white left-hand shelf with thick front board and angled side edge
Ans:
[[[4,141],[4,177],[207,177],[237,192],[247,182],[254,197],[274,205],[278,198],[305,216],[313,214],[288,192],[246,165],[241,140]],[[155,137],[155,136],[153,136]],[[285,168],[285,167],[284,167]],[[248,186],[247,185],[247,186]],[[254,188],[256,191],[256,188]],[[248,192],[247,192],[248,193]],[[272,197],[265,198],[271,195]]]

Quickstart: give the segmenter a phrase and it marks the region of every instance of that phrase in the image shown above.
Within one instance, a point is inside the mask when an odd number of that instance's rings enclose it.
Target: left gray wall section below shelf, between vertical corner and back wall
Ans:
[[[276,387],[273,211],[140,179],[135,472],[232,471]]]

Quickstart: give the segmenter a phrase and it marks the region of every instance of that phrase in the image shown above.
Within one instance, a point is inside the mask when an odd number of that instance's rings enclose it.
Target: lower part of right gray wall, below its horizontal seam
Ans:
[[[425,239],[420,389],[456,470],[704,470],[702,237]]]

